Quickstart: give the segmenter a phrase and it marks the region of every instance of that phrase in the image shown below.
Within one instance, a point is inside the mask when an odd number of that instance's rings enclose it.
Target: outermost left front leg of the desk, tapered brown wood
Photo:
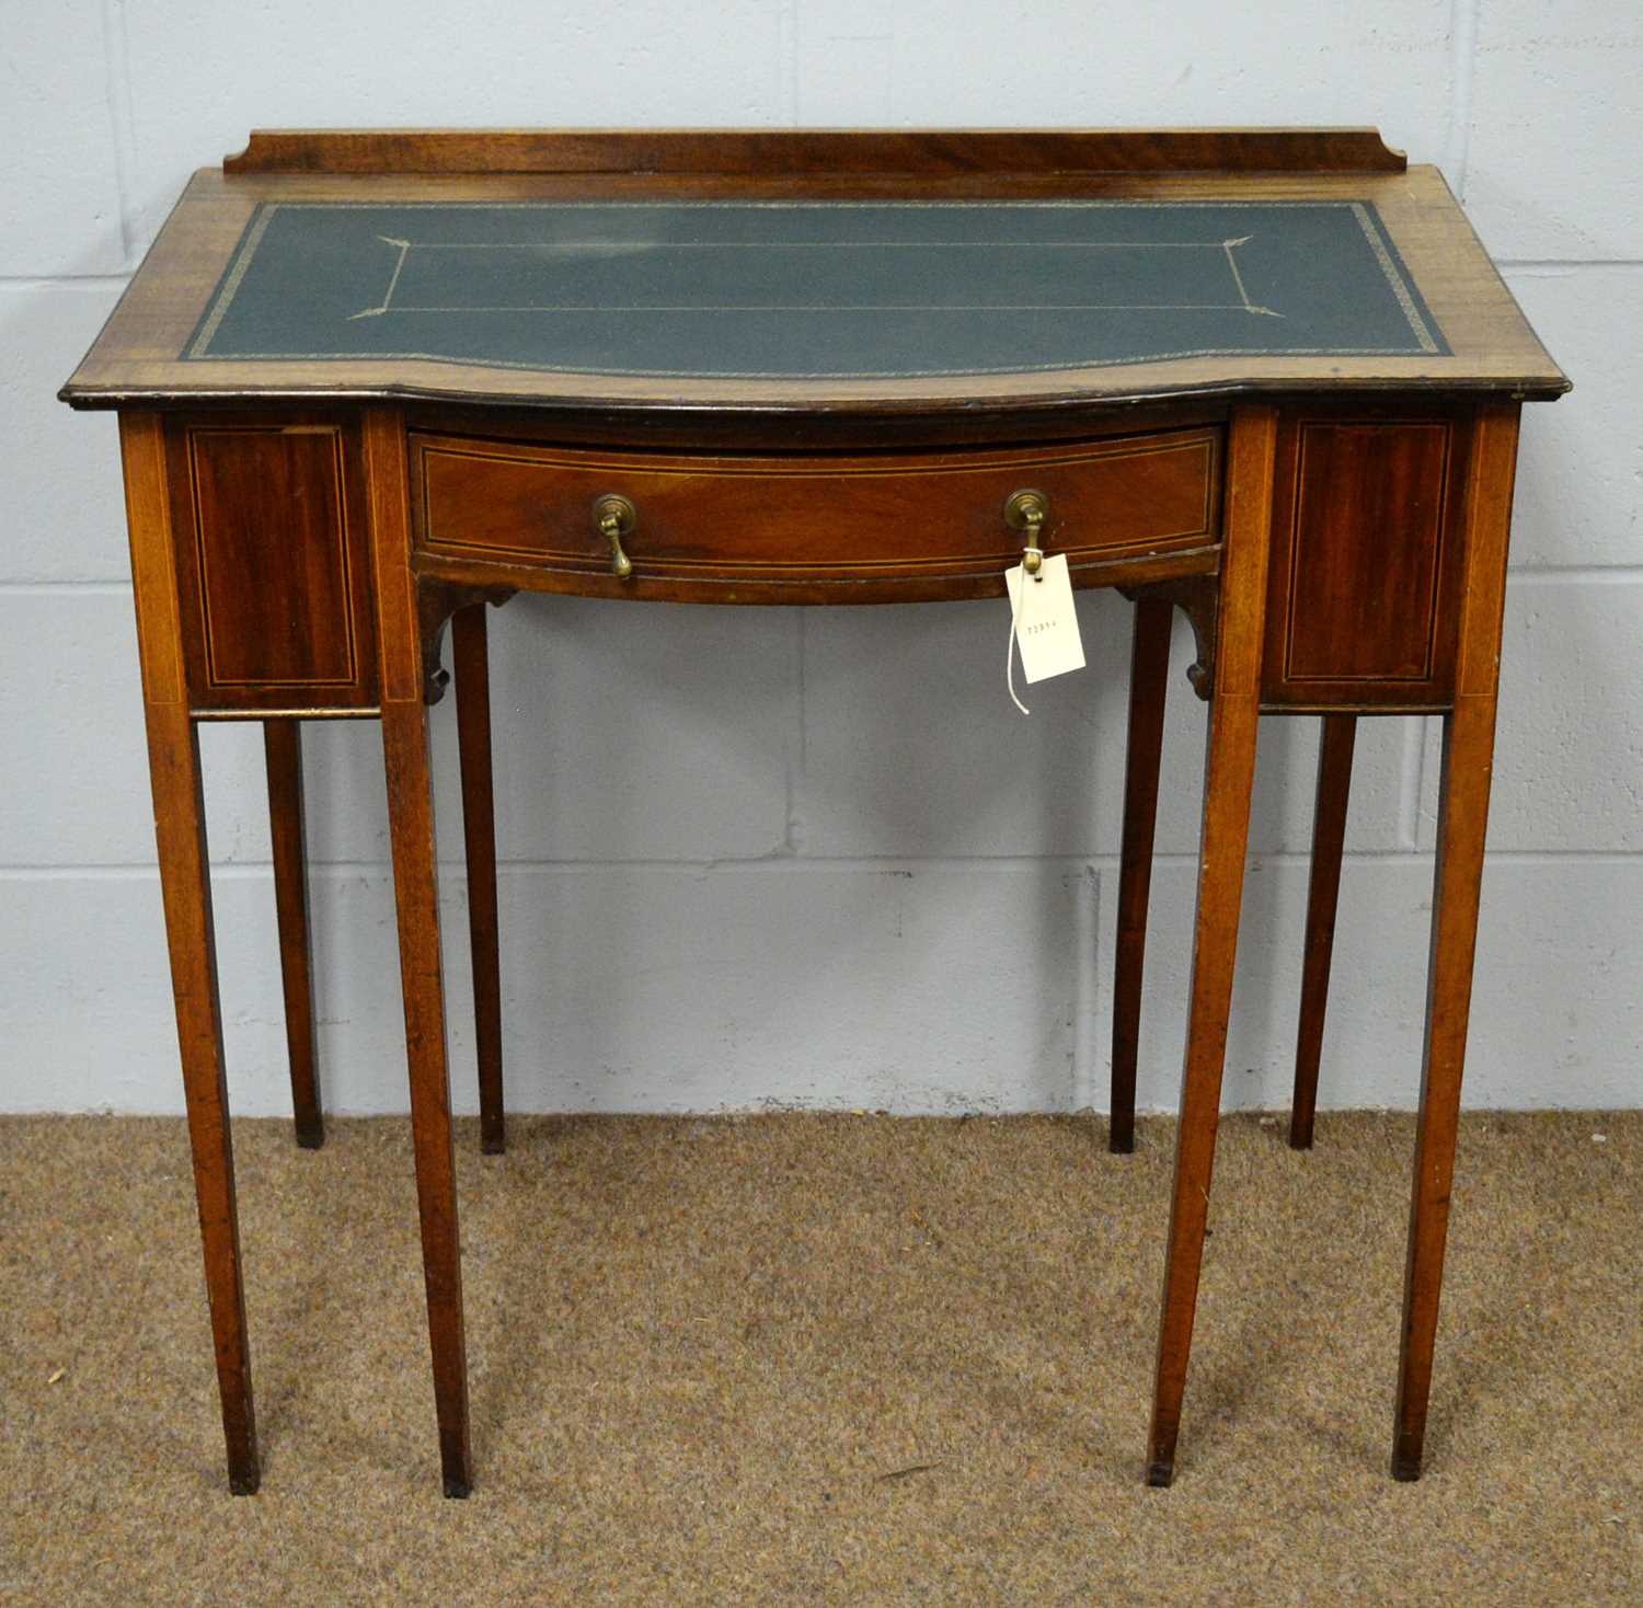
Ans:
[[[240,1270],[240,1219],[228,1133],[222,1005],[217,997],[217,943],[212,928],[210,859],[200,788],[199,734],[189,716],[177,632],[177,588],[166,514],[159,419],[127,412],[120,419],[131,581],[148,731],[148,772],[154,795],[159,887],[166,907],[166,948],[177,1007],[177,1048],[189,1112],[194,1197],[205,1252],[217,1390],[228,1450],[228,1490],[250,1495],[261,1478],[256,1411],[251,1399],[251,1348],[245,1325]]]

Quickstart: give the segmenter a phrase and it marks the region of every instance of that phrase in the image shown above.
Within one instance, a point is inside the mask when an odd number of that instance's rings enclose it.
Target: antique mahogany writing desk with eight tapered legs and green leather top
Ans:
[[[1262,713],[1321,714],[1291,1142],[1311,1142],[1354,723],[1444,721],[1393,1473],[1420,1472],[1518,412],[1567,381],[1372,131],[268,133],[199,172],[62,396],[118,407],[228,1477],[258,1482],[197,723],[263,721],[317,1145],[297,723],[383,724],[445,1490],[470,1486],[426,706],[453,667],[481,1133],[503,1143],[485,603],[1135,600],[1112,1150],[1168,636],[1208,765],[1147,1478],[1186,1383]],[[992,629],[992,627],[987,627]],[[999,690],[978,710],[1014,719]],[[978,718],[986,718],[978,714]],[[531,741],[513,733],[511,741]],[[1032,1188],[1032,1179],[1024,1179]]]

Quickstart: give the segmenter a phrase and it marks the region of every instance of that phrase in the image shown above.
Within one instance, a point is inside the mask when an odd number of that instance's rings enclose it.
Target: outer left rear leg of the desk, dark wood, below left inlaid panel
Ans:
[[[319,1099],[314,1033],[314,944],[309,933],[307,831],[302,818],[302,726],[263,721],[268,762],[268,826],[274,856],[274,910],[279,918],[279,981],[286,995],[286,1054],[297,1143],[319,1150],[325,1123]]]

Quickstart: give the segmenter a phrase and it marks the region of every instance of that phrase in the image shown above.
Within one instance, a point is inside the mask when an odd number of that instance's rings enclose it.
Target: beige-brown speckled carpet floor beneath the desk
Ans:
[[[255,1498],[181,1123],[0,1122],[0,1603],[1643,1603],[1643,1114],[1467,1119],[1397,1485],[1411,1135],[1224,1123],[1152,1491],[1167,1123],[465,1123],[460,1503],[404,1122],[235,1127]]]

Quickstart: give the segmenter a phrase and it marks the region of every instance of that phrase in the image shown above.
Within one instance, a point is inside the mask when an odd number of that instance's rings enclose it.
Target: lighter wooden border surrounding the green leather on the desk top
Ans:
[[[690,136],[679,136],[688,145]],[[1027,136],[1024,136],[1027,138]],[[1203,171],[1071,171],[1030,166],[1027,151],[996,164],[935,164],[925,171],[803,169],[772,146],[759,163],[723,172],[660,158],[644,171],[567,172],[197,172],[95,347],[64,386],[77,406],[150,399],[429,397],[486,399],[552,407],[567,419],[588,411],[738,407],[774,412],[923,412],[937,420],[986,406],[1078,409],[1181,393],[1240,394],[1283,389],[1374,389],[1439,384],[1554,396],[1567,381],[1507,291],[1436,168],[1342,172],[1240,171],[1239,136],[1203,136]],[[664,136],[657,136],[665,145]],[[370,143],[361,145],[360,161]],[[478,154],[473,156],[480,159]],[[1114,158],[1116,159],[1116,158]],[[600,158],[605,161],[605,158]],[[544,374],[427,360],[182,361],[256,205],[268,200],[1365,200],[1374,204],[1420,286],[1452,355],[1420,356],[1186,356],[1032,374],[907,379],[652,379]],[[932,429],[938,429],[933,424]]]

